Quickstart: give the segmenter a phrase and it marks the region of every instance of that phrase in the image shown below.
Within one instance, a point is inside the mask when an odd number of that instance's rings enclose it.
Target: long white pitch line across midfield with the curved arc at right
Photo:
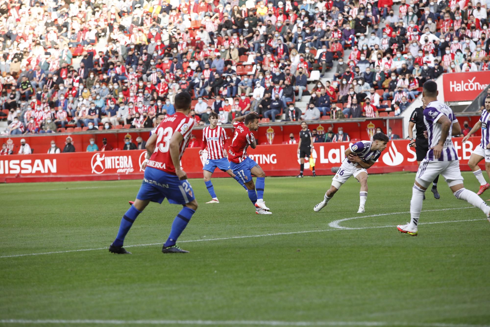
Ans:
[[[422,212],[430,212],[430,211],[446,211],[446,210],[457,210],[457,209],[468,209],[474,207],[463,207],[463,208],[447,208],[447,209],[434,209],[434,210],[424,210]],[[398,214],[409,214],[410,212],[395,212],[391,214],[379,214],[379,215],[370,215],[370,216],[360,216],[360,217],[351,217],[340,219],[342,221],[356,218],[368,218],[368,217],[379,217],[379,216],[389,216],[389,215],[398,215]],[[336,221],[340,221],[336,220]],[[451,222],[464,222],[464,221],[477,221],[477,220],[486,220],[485,218],[480,219],[464,219],[464,220],[445,220],[445,221],[434,221],[434,222],[419,222],[419,225],[431,225],[431,224],[442,224],[442,223],[451,223]],[[335,222],[335,221],[333,221]],[[331,224],[331,223],[330,223]],[[329,224],[329,225],[330,225]],[[333,226],[330,226],[333,227]],[[353,229],[372,229],[372,228],[388,228],[388,227],[396,227],[396,225],[392,226],[371,226],[371,227],[358,227],[358,228],[347,228],[347,227],[333,227],[335,229],[319,229],[319,230],[304,230],[299,232],[284,232],[284,233],[270,233],[270,234],[260,234],[260,235],[244,235],[244,236],[231,236],[231,237],[221,237],[215,239],[199,239],[199,240],[187,240],[187,241],[179,241],[179,243],[190,243],[190,242],[208,242],[208,241],[221,241],[221,240],[235,240],[235,239],[247,239],[254,237],[266,237],[266,236],[278,236],[278,235],[293,235],[293,234],[304,234],[304,233],[322,233],[322,232],[333,232],[339,230],[353,230]],[[125,245],[124,247],[135,247],[135,246],[150,246],[150,245],[162,245],[163,242],[158,243],[147,243],[147,244],[136,244],[136,245]],[[66,250],[66,251],[52,251],[52,252],[40,252],[40,253],[25,253],[25,254],[12,254],[12,255],[3,255],[1,258],[15,258],[15,257],[25,257],[31,255],[43,255],[43,254],[56,254],[56,253],[69,253],[69,252],[82,252],[82,251],[96,251],[96,250],[107,250],[108,247],[96,247],[96,248],[82,248],[77,250]]]

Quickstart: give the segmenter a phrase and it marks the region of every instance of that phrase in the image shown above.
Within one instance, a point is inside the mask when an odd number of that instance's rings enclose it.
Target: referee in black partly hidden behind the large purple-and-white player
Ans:
[[[410,137],[410,146],[415,148],[415,152],[417,153],[417,164],[420,165],[420,162],[427,155],[427,151],[429,151],[429,141],[424,136],[425,123],[424,123],[424,109],[427,107],[427,103],[425,103],[424,98],[422,98],[422,107],[418,107],[412,112],[410,116],[410,120],[408,123],[408,136]],[[414,139],[413,129],[417,131],[417,138]],[[437,182],[439,181],[439,175],[437,175],[434,182],[432,182],[432,193],[434,193],[434,197],[436,199],[440,199],[441,195],[437,191]],[[425,193],[424,193],[425,200]]]

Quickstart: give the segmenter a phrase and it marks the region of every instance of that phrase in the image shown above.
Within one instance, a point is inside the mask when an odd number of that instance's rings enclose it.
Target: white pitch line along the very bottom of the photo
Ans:
[[[77,324],[77,325],[226,325],[226,326],[416,326],[416,327],[490,327],[490,325],[446,324],[446,323],[405,323],[405,322],[288,322],[254,320],[58,320],[58,319],[3,319],[0,324]]]

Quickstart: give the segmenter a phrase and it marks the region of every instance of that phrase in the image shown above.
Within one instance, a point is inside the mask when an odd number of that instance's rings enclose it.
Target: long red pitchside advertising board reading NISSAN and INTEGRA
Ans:
[[[468,159],[480,144],[480,137],[470,137],[464,144],[461,141],[461,137],[453,138],[461,169],[469,170]],[[332,168],[340,166],[350,144],[315,143],[312,158],[317,174],[332,175]],[[259,145],[248,150],[250,158],[260,164],[268,176],[294,176],[299,171],[297,144]],[[145,157],[146,151],[141,150],[1,156],[0,182],[141,179],[144,174],[141,164]],[[201,178],[202,166],[207,160],[205,151],[199,156],[199,148],[188,148],[181,166],[189,178]],[[483,162],[480,164],[484,166]],[[305,174],[308,174],[309,165],[305,160]],[[416,170],[415,149],[409,147],[408,140],[394,140],[388,143],[378,162],[369,168],[369,173]],[[213,176],[228,174],[217,169]]]

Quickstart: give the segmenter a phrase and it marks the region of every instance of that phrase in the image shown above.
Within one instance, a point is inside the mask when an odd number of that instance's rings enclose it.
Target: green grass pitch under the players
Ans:
[[[152,203],[125,256],[107,247],[141,181],[1,185],[0,326],[490,326],[489,222],[441,182],[397,232],[414,177],[370,176],[365,214],[353,179],[315,213],[331,176],[267,178],[268,216],[231,178],[218,205],[191,180],[191,253],[161,253],[180,206]]]

